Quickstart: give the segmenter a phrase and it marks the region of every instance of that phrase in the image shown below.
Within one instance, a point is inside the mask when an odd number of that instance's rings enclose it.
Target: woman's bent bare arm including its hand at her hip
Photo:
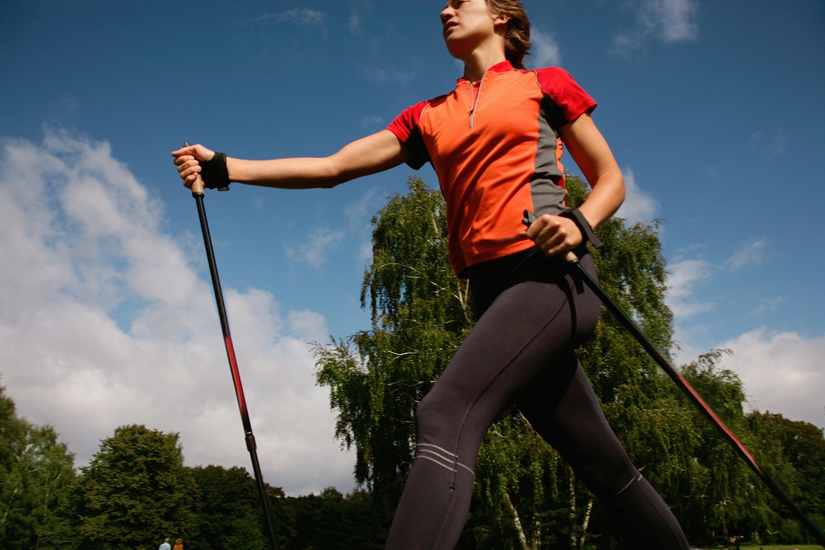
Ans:
[[[625,200],[625,178],[607,142],[587,113],[563,125],[561,137],[592,187],[578,210],[587,223],[596,228],[615,214]],[[522,234],[535,241],[547,256],[568,252],[568,260],[575,257],[570,251],[581,244],[583,238],[573,220],[550,214],[540,216]]]

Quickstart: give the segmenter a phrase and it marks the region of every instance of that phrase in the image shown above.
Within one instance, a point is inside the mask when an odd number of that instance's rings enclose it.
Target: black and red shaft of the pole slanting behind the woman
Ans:
[[[625,328],[632,334],[639,344],[647,350],[648,354],[653,357],[662,369],[664,369],[665,373],[672,378],[673,382],[676,383],[679,388],[684,390],[687,394],[687,397],[694,403],[696,407],[699,408],[700,412],[702,412],[705,417],[719,430],[725,440],[728,441],[729,444],[733,446],[733,450],[737,452],[737,454],[744,459],[748,466],[752,468],[754,472],[757,473],[757,476],[761,478],[763,482],[765,482],[766,486],[771,490],[774,494],[776,499],[784,504],[787,509],[796,516],[799,521],[804,524],[808,531],[813,534],[813,538],[817,540],[818,544],[822,544],[825,546],[825,535],[823,535],[822,531],[818,529],[813,522],[808,519],[808,516],[804,514],[802,510],[799,510],[799,507],[794,504],[794,501],[791,500],[790,495],[785,489],[780,486],[776,480],[771,477],[771,475],[765,471],[765,468],[762,468],[759,461],[747,450],[745,445],[742,444],[736,437],[733,435],[733,432],[728,429],[728,426],[724,425],[724,422],[719,419],[719,416],[716,416],[716,413],[709,407],[707,403],[700,397],[698,393],[696,393],[695,389],[691,387],[691,384],[687,383],[685,378],[682,378],[681,374],[673,368],[673,365],[667,360],[667,358],[662,354],[661,351],[658,350],[656,346],[653,346],[651,341],[648,339],[647,336],[644,335],[643,331],[636,325],[636,323],[628,317],[628,315],[622,311],[622,309],[616,305],[616,303],[610,299],[610,296],[605,294],[605,291],[601,289],[601,286],[594,280],[587,270],[582,267],[582,264],[576,261],[572,261],[576,267],[578,274],[582,276],[582,279],[587,284],[587,286],[592,289],[596,296],[601,299],[601,303],[605,304],[605,307],[610,309],[610,312],[615,315],[619,321],[625,325]]]

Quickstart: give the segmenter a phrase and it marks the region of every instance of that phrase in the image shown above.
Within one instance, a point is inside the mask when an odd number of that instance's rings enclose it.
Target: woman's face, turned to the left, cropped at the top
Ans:
[[[450,0],[441,11],[441,35],[450,54],[462,59],[463,54],[495,35],[498,21],[502,19],[490,10],[487,0]]]

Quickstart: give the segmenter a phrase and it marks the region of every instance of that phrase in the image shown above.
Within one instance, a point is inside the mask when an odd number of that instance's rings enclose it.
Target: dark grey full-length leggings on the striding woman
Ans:
[[[595,275],[590,256],[582,266]],[[468,275],[479,321],[417,408],[416,454],[386,548],[455,547],[483,436],[515,403],[601,499],[633,548],[687,550],[671,511],[607,424],[573,353],[596,327],[598,298],[568,266],[535,249],[484,262]]]

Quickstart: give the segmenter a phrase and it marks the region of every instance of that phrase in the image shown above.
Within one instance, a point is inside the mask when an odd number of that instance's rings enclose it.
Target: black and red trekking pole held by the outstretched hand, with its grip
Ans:
[[[184,143],[184,147],[189,147],[189,142]],[[252,434],[252,422],[249,421],[249,412],[247,411],[247,400],[243,397],[243,386],[241,385],[241,374],[238,372],[238,361],[235,360],[235,349],[232,346],[232,336],[229,334],[229,320],[226,317],[226,307],[224,306],[224,293],[220,289],[220,280],[218,279],[218,266],[214,261],[214,251],[212,250],[212,238],[209,233],[209,224],[206,223],[206,210],[204,209],[204,184],[197,177],[197,180],[192,184],[192,196],[195,197],[195,202],[198,205],[198,217],[200,218],[200,231],[204,234],[204,247],[206,249],[206,259],[209,261],[210,275],[212,275],[212,286],[214,288],[214,301],[218,304],[218,317],[220,317],[220,327],[224,332],[224,346],[226,346],[226,355],[229,358],[229,369],[232,371],[232,381],[235,385],[235,397],[238,398],[238,408],[241,411],[241,421],[243,421],[243,434],[247,441],[247,449],[249,450],[249,457],[252,458],[252,473],[255,475],[257,482],[258,497],[261,499],[261,507],[263,510],[264,526],[266,528],[266,536],[269,540],[270,550],[277,550],[278,544],[275,541],[275,529],[272,527],[272,515],[269,512],[269,502],[266,498],[266,486],[263,482],[263,475],[261,473],[261,464],[257,459],[257,445],[255,444],[255,435]]]

